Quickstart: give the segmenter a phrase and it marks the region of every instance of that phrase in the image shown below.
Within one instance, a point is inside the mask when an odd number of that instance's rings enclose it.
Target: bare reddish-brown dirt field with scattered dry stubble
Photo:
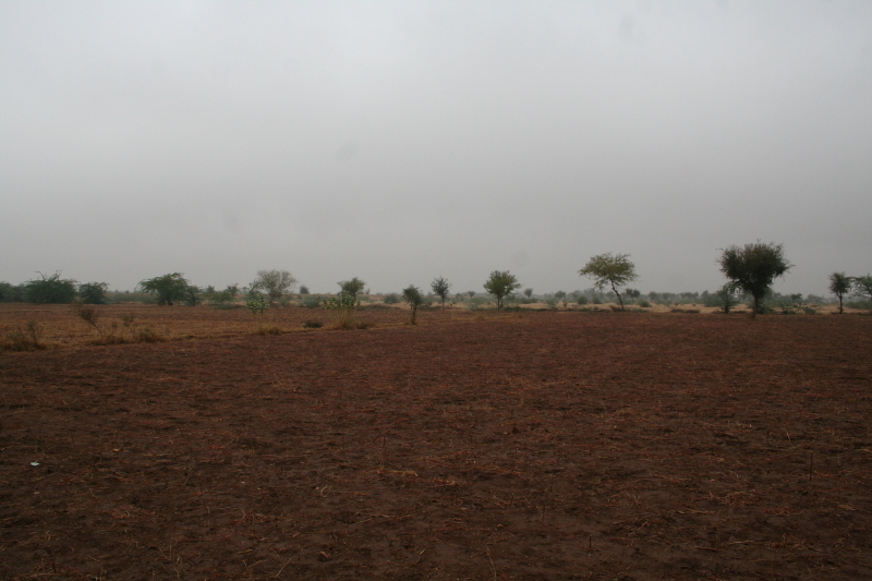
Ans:
[[[869,316],[2,308],[0,579],[872,579]]]

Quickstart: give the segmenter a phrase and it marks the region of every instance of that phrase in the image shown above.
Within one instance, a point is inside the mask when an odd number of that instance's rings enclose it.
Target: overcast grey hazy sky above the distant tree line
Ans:
[[[0,2],[0,280],[872,271],[872,2]]]

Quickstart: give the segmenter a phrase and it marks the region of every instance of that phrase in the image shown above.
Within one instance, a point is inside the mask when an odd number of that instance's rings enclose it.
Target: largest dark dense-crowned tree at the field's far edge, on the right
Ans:
[[[751,318],[756,317],[760,302],[772,282],[794,266],[784,256],[784,244],[764,244],[760,240],[744,246],[729,246],[717,259],[720,271],[736,288],[754,298]]]

